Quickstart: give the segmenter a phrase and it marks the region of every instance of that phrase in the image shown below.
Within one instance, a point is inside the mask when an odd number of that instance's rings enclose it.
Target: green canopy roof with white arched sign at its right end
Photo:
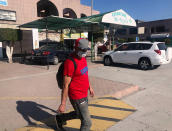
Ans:
[[[136,26],[136,22],[122,9],[84,18],[70,19],[58,16],[48,16],[19,27],[58,30],[74,28],[80,31],[98,31],[106,27],[121,28]]]

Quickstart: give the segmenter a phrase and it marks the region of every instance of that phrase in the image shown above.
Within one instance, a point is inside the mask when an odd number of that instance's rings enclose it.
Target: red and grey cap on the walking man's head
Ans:
[[[80,49],[88,49],[88,40],[86,39],[83,39],[83,38],[79,38],[76,40],[76,43],[75,43],[75,48],[78,47]]]

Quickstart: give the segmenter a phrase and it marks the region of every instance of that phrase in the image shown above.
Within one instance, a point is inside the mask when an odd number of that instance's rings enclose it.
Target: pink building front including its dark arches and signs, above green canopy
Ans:
[[[80,0],[0,0],[0,28],[18,28],[21,24],[50,15],[81,18],[90,16],[91,12],[99,14],[99,11],[91,11],[91,7],[82,5]],[[24,45],[23,51],[31,50],[32,39],[32,31],[23,30],[22,41],[15,44],[14,52],[19,52],[17,49],[21,44]]]

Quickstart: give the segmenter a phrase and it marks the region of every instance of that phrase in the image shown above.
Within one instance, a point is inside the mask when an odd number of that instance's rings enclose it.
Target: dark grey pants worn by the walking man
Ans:
[[[80,131],[89,131],[91,127],[91,118],[88,111],[88,99],[82,98],[79,100],[70,100],[75,111],[64,113],[63,120],[80,119]]]

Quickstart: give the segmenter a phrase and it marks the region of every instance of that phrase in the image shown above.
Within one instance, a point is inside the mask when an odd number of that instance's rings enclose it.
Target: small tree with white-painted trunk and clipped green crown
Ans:
[[[6,45],[6,54],[8,57],[8,62],[13,63],[12,55],[14,43],[20,39],[20,31],[17,29],[1,28],[0,29],[0,41],[4,42]]]

